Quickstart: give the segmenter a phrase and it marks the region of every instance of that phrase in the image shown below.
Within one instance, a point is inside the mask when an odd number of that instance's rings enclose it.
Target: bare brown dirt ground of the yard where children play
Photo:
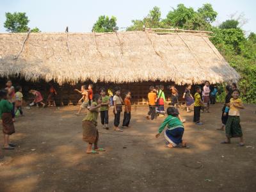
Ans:
[[[189,149],[165,148],[163,134],[154,138],[163,118],[146,120],[147,107],[132,108],[131,129],[99,126],[111,134],[100,133],[106,152],[97,155],[85,153],[78,106],[24,109],[12,136],[18,147],[3,152],[0,191],[256,191],[256,106],[241,111],[246,147],[237,147],[238,139],[220,144],[221,106],[202,114],[202,126],[180,109]],[[111,109],[109,115],[113,125]]]

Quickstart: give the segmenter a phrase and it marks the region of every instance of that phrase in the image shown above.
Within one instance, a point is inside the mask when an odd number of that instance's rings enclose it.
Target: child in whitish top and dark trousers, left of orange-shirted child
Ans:
[[[119,129],[118,125],[120,124],[120,115],[122,112],[122,103],[123,99],[120,96],[121,90],[120,87],[115,88],[115,96],[113,97],[114,100],[114,114],[115,114],[115,120],[114,120],[114,130],[122,132],[122,129]]]

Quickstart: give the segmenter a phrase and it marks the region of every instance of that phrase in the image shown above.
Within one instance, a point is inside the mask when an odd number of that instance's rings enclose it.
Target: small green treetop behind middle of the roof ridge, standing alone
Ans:
[[[113,29],[118,30],[118,27],[116,26],[116,17],[112,16],[111,19],[109,19],[108,16],[101,15],[93,25],[92,31],[104,33],[112,32]]]

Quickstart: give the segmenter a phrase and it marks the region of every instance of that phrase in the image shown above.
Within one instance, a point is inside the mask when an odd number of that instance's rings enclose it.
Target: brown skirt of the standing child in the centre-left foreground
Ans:
[[[95,143],[99,139],[99,132],[96,122],[83,121],[83,141]]]

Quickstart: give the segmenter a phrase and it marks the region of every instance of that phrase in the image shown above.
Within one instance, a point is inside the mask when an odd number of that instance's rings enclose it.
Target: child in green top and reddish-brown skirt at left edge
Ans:
[[[15,128],[12,120],[12,109],[13,104],[10,100],[7,100],[6,90],[0,90],[0,118],[2,119],[3,124],[3,134],[4,134],[4,147],[5,150],[14,149],[15,145],[10,143],[10,135],[15,133]]]

